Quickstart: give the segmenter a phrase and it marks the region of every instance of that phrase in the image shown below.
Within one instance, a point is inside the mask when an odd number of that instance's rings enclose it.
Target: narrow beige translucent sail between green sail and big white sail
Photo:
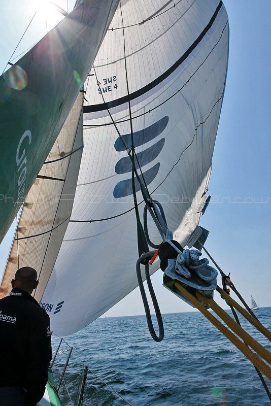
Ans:
[[[35,298],[42,297],[72,213],[83,151],[83,94],[79,93],[25,198],[0,288],[1,297],[11,290],[11,280],[22,266],[37,270]]]

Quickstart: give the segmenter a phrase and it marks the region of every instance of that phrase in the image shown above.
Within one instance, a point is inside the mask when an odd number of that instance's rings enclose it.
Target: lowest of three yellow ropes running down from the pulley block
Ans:
[[[217,320],[212,313],[210,313],[202,304],[189,293],[179,282],[175,281],[176,288],[202,313],[211,321],[218,330],[220,330],[228,340],[235,345],[252,363],[258,368],[270,381],[271,381],[271,368],[265,364],[254,352],[252,352],[246,344],[238,339],[227,327],[225,327],[219,320]]]

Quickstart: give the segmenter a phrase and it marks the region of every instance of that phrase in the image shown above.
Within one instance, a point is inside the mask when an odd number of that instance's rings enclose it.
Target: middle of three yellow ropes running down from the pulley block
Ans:
[[[233,320],[228,313],[225,312],[212,297],[202,296],[199,292],[196,292],[197,298],[204,303],[209,304],[211,309],[229,326],[229,328],[247,344],[256,353],[258,353],[265,361],[271,364],[271,353],[264,348],[260,343],[253,339],[253,337],[247,333],[235,320]]]

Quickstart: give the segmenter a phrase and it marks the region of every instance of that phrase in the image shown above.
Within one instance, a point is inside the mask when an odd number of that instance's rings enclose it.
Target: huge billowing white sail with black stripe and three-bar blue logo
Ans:
[[[42,298],[60,335],[80,330],[137,286],[131,166],[107,110],[130,147],[126,72],[144,178],[183,246],[206,200],[222,105],[228,59],[222,2],[122,1],[111,27],[86,83],[72,220],[88,222],[69,223]],[[137,197],[142,201],[140,191]],[[142,216],[143,204],[139,209]],[[157,268],[156,262],[151,272]]]

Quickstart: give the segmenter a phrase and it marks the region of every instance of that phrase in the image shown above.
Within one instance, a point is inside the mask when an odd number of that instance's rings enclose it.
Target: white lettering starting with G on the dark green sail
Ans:
[[[25,142],[24,142],[25,140]],[[18,180],[17,180],[17,185],[18,185],[18,190],[17,190],[17,199],[14,204],[14,206],[18,205],[21,203],[21,200],[24,196],[24,190],[25,190],[25,178],[26,178],[26,173],[27,173],[27,155],[25,152],[25,149],[23,148],[23,145],[28,146],[31,144],[32,141],[32,136],[31,136],[31,131],[26,130],[23,134],[22,137],[20,138],[20,141],[17,146],[17,151],[16,151],[16,164],[17,164],[17,174],[18,174]]]

